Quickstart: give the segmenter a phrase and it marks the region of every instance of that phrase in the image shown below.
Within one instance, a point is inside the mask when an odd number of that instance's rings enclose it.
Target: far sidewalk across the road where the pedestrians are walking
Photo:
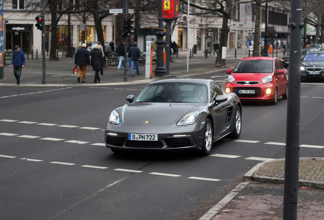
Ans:
[[[234,67],[237,61],[242,57],[242,50],[237,52],[241,53],[240,56],[237,55],[235,59],[235,50],[229,50],[227,56],[227,66],[228,68]],[[25,56],[26,57],[26,56]],[[180,52],[180,57],[172,60],[170,62],[170,74],[167,76],[170,77],[188,77],[196,74],[205,74],[205,73],[215,73],[215,72],[224,72],[225,69],[215,68],[214,62],[216,56],[208,56],[205,58],[203,51],[198,51],[197,54],[194,54],[194,57],[188,59],[189,68],[187,68],[187,57],[186,52]],[[4,66],[4,79],[0,79],[0,87],[16,87],[16,79],[13,75],[13,68],[9,67],[11,60],[6,61]],[[154,76],[154,70],[156,64],[153,63],[152,66],[152,78],[145,78],[145,65],[140,65],[140,75],[131,76],[130,68],[127,71],[127,81],[125,80],[124,71],[118,71],[115,64],[106,66],[103,69],[103,75],[100,75],[100,84],[94,84],[94,73],[92,67],[87,68],[86,74],[86,84],[80,84],[77,82],[77,74],[73,74],[74,68],[74,58],[61,58],[59,54],[58,61],[48,61],[48,57],[45,59],[45,84],[43,82],[43,62],[42,57],[38,56],[38,60],[34,59],[27,60],[25,67],[21,71],[21,81],[20,87],[73,87],[73,86],[107,86],[107,85],[131,85],[131,84],[148,84],[154,79],[161,77]],[[166,67],[166,64],[164,64]]]

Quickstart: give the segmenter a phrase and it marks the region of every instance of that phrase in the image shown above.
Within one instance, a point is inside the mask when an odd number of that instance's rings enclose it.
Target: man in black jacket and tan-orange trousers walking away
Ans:
[[[80,82],[80,77],[82,76],[81,82],[86,83],[87,66],[90,67],[90,53],[87,50],[87,44],[83,43],[82,47],[76,50],[74,64],[79,66],[77,81]]]

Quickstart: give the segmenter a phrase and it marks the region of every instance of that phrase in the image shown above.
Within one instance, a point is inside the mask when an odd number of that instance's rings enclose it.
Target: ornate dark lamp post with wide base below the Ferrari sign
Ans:
[[[164,67],[164,58],[163,58],[163,45],[165,41],[163,37],[165,33],[163,32],[163,14],[162,14],[163,0],[158,0],[158,29],[155,33],[156,35],[156,67],[154,70],[155,76],[163,76],[166,74],[167,70]]]

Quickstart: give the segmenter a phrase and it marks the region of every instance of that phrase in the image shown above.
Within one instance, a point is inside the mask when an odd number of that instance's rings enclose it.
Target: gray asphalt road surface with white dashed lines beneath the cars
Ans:
[[[224,88],[226,74],[212,77]],[[115,106],[144,85],[1,88],[0,219],[199,219],[260,161],[285,156],[287,100],[245,102],[238,140],[209,156],[116,155],[104,147]],[[323,146],[324,84],[301,87],[305,146]],[[301,147],[301,157],[324,157]]]

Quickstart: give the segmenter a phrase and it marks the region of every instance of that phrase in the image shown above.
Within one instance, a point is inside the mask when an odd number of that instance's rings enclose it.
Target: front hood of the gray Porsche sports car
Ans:
[[[183,103],[134,103],[123,106],[122,118],[129,125],[167,125],[194,111],[194,107]]]

